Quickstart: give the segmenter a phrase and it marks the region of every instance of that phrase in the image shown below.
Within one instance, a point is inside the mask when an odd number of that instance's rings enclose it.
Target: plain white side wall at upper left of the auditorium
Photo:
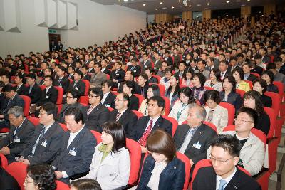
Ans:
[[[11,0],[0,0],[0,3],[1,1]],[[42,11],[35,13],[35,9],[43,10],[43,7],[36,6],[35,8],[34,4],[34,1],[43,0],[13,1],[19,1],[20,32],[8,32],[5,29],[4,31],[0,31],[0,56],[6,57],[8,53],[14,56],[19,53],[28,55],[29,51],[48,51],[47,27],[51,26],[48,23],[51,20],[51,15],[48,15],[50,13],[46,8],[44,9],[46,11],[45,14]],[[58,0],[52,1],[57,2]],[[66,3],[66,0],[61,1]],[[78,26],[74,29],[68,29],[67,21],[67,26],[63,27],[65,29],[57,29],[57,33],[61,34],[63,48],[67,48],[68,46],[87,47],[92,46],[94,43],[100,46],[105,41],[116,40],[118,36],[138,31],[140,28],[145,28],[146,25],[146,14],[142,11],[129,9],[124,6],[103,6],[90,0],[67,1],[77,6]],[[44,6],[47,6],[47,4],[44,4]],[[42,14],[38,15],[40,13]],[[61,18],[58,18],[58,16],[61,16]],[[57,13],[56,18],[58,23],[53,25],[53,28],[61,27],[61,23],[65,23],[62,18],[68,19],[69,17],[68,15],[63,16],[61,13]],[[3,19],[0,18],[0,20]]]

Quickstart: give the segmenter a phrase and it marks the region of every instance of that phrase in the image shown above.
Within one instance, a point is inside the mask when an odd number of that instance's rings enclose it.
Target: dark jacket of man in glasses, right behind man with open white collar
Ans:
[[[83,108],[83,117],[85,118],[86,127],[90,130],[103,132],[102,125],[108,121],[110,116],[108,108],[100,103],[87,115],[89,107],[90,105]]]

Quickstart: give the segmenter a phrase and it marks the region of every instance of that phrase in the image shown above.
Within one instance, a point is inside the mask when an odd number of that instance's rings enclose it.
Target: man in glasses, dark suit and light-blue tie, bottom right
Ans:
[[[237,138],[220,134],[211,147],[212,164],[197,171],[192,183],[193,190],[261,190],[257,181],[237,167],[242,148]]]

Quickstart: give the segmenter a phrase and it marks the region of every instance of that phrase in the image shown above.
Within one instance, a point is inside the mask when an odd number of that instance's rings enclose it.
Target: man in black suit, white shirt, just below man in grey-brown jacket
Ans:
[[[105,107],[112,107],[115,109],[115,95],[111,92],[113,82],[111,80],[104,80],[102,82],[103,98],[101,104]]]

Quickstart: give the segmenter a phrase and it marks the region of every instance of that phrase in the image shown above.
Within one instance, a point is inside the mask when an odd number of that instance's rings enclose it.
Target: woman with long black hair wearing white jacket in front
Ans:
[[[123,126],[106,122],[102,128],[102,142],[95,147],[89,173],[81,179],[95,179],[106,190],[124,187],[130,176],[130,154]]]

